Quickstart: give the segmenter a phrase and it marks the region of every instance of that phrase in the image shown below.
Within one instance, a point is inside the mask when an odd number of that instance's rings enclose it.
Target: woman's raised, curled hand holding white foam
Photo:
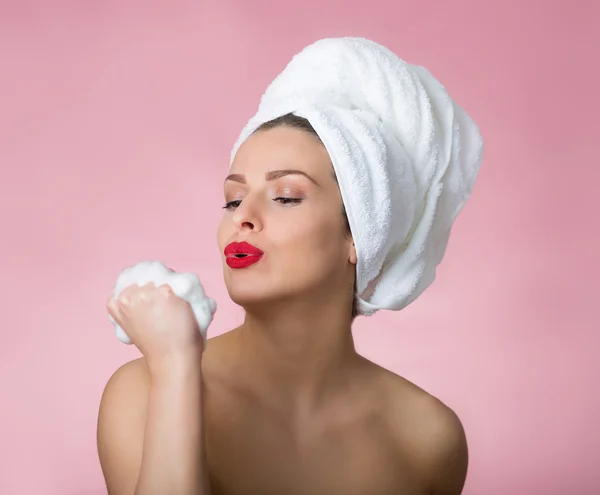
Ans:
[[[182,355],[201,355],[202,336],[190,304],[167,284],[129,285],[107,309],[149,366]]]

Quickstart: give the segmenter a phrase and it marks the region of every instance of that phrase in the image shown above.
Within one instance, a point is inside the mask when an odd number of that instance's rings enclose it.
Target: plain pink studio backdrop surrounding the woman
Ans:
[[[600,6],[352,3],[1,3],[2,495],[105,493],[98,402],[138,356],[105,311],[124,266],[195,271],[211,334],[240,321],[215,240],[229,151],[292,54],[340,35],[428,67],[487,143],[436,283],[359,319],[359,350],[462,418],[464,494],[600,493]]]

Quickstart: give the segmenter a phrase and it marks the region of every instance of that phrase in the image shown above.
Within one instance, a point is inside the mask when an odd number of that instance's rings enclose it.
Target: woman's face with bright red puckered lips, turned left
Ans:
[[[253,134],[236,153],[224,196],[217,239],[234,302],[323,301],[332,290],[352,292],[356,253],[329,155],[315,136],[289,127]],[[244,241],[264,254],[236,268],[240,262],[224,252]]]

